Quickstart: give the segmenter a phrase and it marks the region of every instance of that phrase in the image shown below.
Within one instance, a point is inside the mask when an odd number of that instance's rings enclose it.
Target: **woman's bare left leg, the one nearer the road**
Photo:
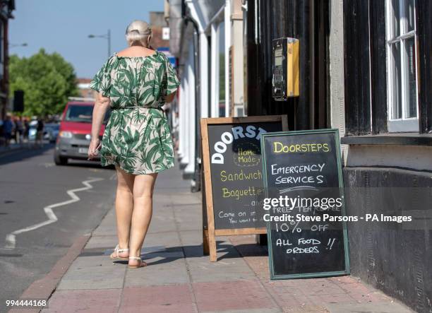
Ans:
[[[131,219],[133,211],[133,180],[135,175],[128,174],[116,167],[117,191],[116,191],[116,220],[117,236],[119,237],[119,249],[126,249],[129,245],[131,232]],[[128,252],[119,252],[120,257],[128,257]]]

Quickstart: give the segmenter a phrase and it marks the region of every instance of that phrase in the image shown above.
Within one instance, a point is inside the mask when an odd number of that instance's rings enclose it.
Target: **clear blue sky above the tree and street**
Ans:
[[[150,11],[163,11],[163,0],[16,0],[9,20],[9,54],[30,57],[44,48],[59,52],[73,64],[78,78],[92,78],[107,59],[111,30],[112,53],[126,48],[124,33],[132,20],[149,21]]]

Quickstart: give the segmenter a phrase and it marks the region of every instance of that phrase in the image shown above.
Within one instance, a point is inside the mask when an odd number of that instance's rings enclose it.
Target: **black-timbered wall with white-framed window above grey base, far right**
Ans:
[[[344,0],[343,17],[348,211],[414,219],[352,225],[353,273],[431,312],[432,4]]]

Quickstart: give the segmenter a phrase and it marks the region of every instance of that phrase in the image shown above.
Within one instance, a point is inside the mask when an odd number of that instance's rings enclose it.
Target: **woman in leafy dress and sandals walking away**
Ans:
[[[88,157],[100,150],[103,166],[117,172],[116,220],[119,243],[112,259],[128,259],[128,267],[145,266],[140,252],[152,218],[157,173],[174,166],[167,116],[179,79],[167,57],[150,47],[152,31],[142,20],[126,28],[128,46],[104,63],[90,83],[97,90]],[[102,143],[99,133],[111,107]]]

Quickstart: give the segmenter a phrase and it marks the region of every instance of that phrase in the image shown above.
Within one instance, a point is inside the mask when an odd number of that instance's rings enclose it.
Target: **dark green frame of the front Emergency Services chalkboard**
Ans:
[[[316,129],[316,130],[306,130],[306,131],[278,131],[269,134],[263,134],[263,137],[275,137],[275,136],[295,136],[295,135],[306,135],[306,134],[333,134],[335,136],[335,148],[336,148],[336,158],[337,158],[337,178],[339,181],[340,194],[342,198],[342,216],[346,216],[347,212],[345,209],[345,196],[344,196],[344,178],[342,175],[342,161],[341,161],[341,150],[340,150],[340,136],[339,129]],[[268,180],[267,180],[267,164],[265,158],[265,144],[261,141],[261,155],[263,160],[263,180],[265,196],[268,197]],[[317,272],[317,273],[299,273],[299,274],[288,274],[288,275],[275,275],[275,268],[273,268],[273,254],[272,254],[272,233],[270,232],[270,222],[267,223],[268,230],[268,265],[270,267],[270,279],[289,279],[289,278],[312,278],[312,277],[328,277],[328,276],[342,276],[349,275],[349,244],[348,244],[348,230],[347,222],[342,223],[342,235],[344,238],[344,271],[330,271],[330,272]]]

